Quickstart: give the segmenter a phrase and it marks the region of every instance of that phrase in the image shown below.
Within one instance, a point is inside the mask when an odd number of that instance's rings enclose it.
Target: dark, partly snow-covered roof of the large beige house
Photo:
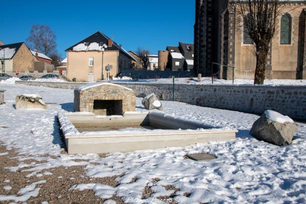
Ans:
[[[104,35],[102,32],[98,31],[89,37],[81,40],[80,42],[69,47],[65,51],[102,51],[102,45],[107,45],[110,38]],[[119,50],[126,56],[133,60],[136,60],[132,55],[130,55],[121,45],[117,44],[115,41],[112,42],[113,46],[104,48],[105,50]]]

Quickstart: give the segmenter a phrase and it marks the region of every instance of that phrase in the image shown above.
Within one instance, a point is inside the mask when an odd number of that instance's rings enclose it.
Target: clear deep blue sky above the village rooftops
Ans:
[[[126,50],[143,47],[152,54],[194,41],[195,0],[6,0],[1,8],[5,44],[25,41],[33,24],[46,24],[63,56],[66,48],[98,30],[114,35]]]

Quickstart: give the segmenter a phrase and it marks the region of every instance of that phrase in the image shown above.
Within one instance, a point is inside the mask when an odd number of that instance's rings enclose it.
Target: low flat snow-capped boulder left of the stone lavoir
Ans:
[[[41,96],[36,94],[23,94],[16,96],[16,109],[40,108],[46,109],[47,105]]]

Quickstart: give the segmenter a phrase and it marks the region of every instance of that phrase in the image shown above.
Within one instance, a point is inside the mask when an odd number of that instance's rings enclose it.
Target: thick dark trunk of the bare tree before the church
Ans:
[[[264,47],[256,47],[256,69],[254,84],[264,84],[268,51],[269,45],[265,45]]]

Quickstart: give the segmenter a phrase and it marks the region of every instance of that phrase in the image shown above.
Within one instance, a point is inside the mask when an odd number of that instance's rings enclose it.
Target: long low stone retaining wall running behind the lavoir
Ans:
[[[33,86],[74,89],[83,83],[16,82]],[[154,93],[163,101],[172,101],[173,85],[120,83],[144,97]],[[205,107],[262,114],[271,109],[296,119],[306,119],[306,86],[254,85],[175,85],[175,101]]]

